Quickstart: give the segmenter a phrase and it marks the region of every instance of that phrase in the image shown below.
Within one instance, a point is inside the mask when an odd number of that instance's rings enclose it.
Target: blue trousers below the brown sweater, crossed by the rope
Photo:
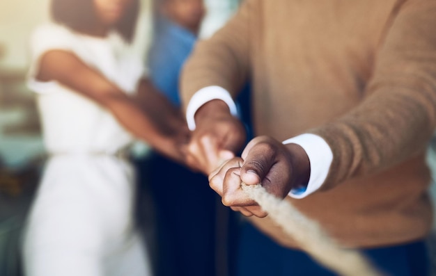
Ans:
[[[334,276],[307,254],[274,243],[248,222],[241,229],[237,276]],[[385,275],[428,276],[429,258],[423,241],[363,250]]]

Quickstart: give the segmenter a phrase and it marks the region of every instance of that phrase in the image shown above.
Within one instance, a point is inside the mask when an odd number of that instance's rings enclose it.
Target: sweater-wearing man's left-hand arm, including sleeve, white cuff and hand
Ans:
[[[250,21],[257,2],[246,1],[224,28],[198,42],[182,72],[182,99],[194,130],[187,161],[205,174],[235,156],[245,141],[244,127],[226,103],[249,75],[249,35],[254,23]],[[223,102],[223,97],[228,101]]]

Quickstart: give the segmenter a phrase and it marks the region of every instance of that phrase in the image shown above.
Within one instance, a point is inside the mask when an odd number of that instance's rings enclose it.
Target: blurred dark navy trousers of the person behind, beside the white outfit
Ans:
[[[155,274],[214,276],[223,268],[231,270],[228,261],[235,258],[228,253],[235,252],[230,249],[235,242],[229,235],[236,232],[231,229],[235,217],[209,187],[208,178],[155,153],[137,166],[140,184],[146,185],[142,193],[153,202]],[[139,204],[139,216],[141,211]]]

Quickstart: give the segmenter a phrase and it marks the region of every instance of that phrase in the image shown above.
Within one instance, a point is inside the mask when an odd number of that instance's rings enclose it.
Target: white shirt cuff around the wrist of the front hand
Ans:
[[[332,165],[333,152],[324,139],[311,133],[304,133],[283,141],[283,145],[287,144],[297,144],[302,147],[311,163],[309,184],[306,187],[293,188],[288,194],[300,199],[316,192],[322,186]]]

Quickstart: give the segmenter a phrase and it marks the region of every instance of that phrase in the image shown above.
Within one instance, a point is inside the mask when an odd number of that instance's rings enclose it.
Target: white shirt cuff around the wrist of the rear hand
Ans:
[[[227,104],[232,115],[238,115],[236,104],[233,102],[233,99],[227,90],[219,86],[201,88],[194,94],[194,96],[192,96],[186,110],[186,121],[191,131],[196,127],[194,116],[198,111],[198,108],[203,106],[203,104],[212,101],[212,99],[221,99],[221,101]]]

